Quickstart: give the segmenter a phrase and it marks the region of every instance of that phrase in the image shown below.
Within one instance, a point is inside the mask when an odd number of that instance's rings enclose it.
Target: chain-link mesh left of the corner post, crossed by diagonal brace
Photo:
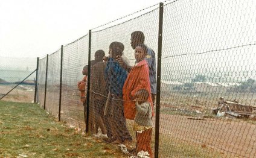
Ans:
[[[31,73],[36,70],[36,58],[0,57],[0,63],[0,98],[22,80],[25,80],[4,96],[2,100],[27,103],[33,102],[36,73]],[[28,77],[29,75],[30,77]]]

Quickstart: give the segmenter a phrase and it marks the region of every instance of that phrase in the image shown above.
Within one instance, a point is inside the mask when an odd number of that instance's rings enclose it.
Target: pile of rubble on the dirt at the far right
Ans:
[[[256,107],[246,106],[238,101],[225,101],[220,97],[218,107],[213,110],[217,116],[228,116],[229,118],[251,118],[256,119]]]

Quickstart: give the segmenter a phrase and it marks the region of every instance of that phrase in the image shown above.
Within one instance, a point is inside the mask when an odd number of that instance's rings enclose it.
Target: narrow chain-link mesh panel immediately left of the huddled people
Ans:
[[[84,107],[80,101],[78,81],[88,64],[88,35],[63,46],[62,111],[61,118],[70,125],[85,129]]]

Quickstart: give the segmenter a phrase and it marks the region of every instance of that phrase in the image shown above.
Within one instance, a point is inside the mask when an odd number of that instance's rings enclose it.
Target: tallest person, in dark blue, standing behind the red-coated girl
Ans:
[[[135,49],[136,46],[143,44],[145,42],[145,36],[142,31],[134,31],[131,34],[130,38],[130,45],[132,46],[132,49]],[[149,64],[149,79],[150,79],[150,88],[151,88],[151,96],[153,103],[155,103],[155,96],[156,96],[156,58],[155,58],[155,52],[153,49],[149,48],[147,46],[147,55],[146,55],[147,63]],[[130,72],[132,69],[132,66],[129,66],[126,64],[126,61],[124,58],[119,57],[118,62],[121,66],[123,66],[124,69],[126,69],[127,72]]]

